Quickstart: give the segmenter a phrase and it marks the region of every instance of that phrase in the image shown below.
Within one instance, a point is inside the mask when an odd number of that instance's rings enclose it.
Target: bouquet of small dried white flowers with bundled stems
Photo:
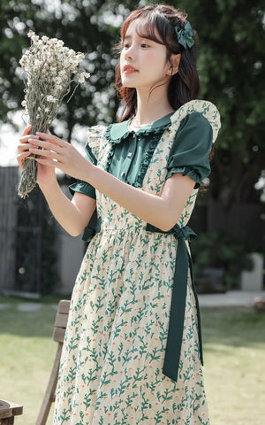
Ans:
[[[22,106],[29,115],[32,125],[31,133],[46,133],[55,119],[63,98],[70,92],[72,81],[85,82],[89,73],[80,72],[79,64],[83,53],[76,53],[64,47],[62,40],[40,38],[34,31],[29,31],[30,48],[19,61],[27,74],[25,99]],[[19,197],[27,197],[34,189],[37,175],[37,162],[32,155],[25,160],[25,169],[19,182]]]

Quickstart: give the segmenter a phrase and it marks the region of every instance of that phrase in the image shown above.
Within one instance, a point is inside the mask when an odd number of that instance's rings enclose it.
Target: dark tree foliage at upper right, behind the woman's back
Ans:
[[[201,97],[216,103],[222,129],[211,187],[230,206],[253,202],[264,168],[264,3],[255,0],[182,0],[197,29]]]

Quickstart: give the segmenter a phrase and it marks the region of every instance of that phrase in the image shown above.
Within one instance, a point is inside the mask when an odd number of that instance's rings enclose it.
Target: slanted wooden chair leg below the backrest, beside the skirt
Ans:
[[[49,409],[50,409],[51,403],[55,401],[55,392],[57,388],[57,379],[58,379],[62,349],[63,349],[63,343],[58,343],[56,358],[54,360],[52,371],[49,376],[49,383],[42,401],[42,407],[41,407],[39,416],[37,418],[36,425],[46,424],[47,418],[49,416]]]

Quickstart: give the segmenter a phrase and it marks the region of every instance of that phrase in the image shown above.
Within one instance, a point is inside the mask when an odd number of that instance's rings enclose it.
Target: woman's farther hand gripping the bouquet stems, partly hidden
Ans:
[[[22,137],[19,139],[19,155],[17,157],[19,162],[19,167],[21,170],[24,170],[25,168],[25,159],[28,158],[33,152],[30,151],[30,149],[35,149],[35,145],[30,142],[35,140],[37,141],[39,139],[38,135],[31,135],[30,130],[32,126],[27,126],[25,128]],[[35,153],[35,152],[34,152]],[[40,150],[38,150],[37,155],[40,154]],[[30,158],[28,160],[35,160],[35,158]],[[52,182],[53,179],[56,178],[55,169],[50,166],[46,166],[44,164],[40,164],[38,166],[38,174],[37,174],[37,182],[39,184],[47,184],[48,182]]]

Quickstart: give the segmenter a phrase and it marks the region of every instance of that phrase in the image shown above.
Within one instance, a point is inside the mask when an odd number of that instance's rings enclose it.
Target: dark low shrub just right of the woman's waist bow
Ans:
[[[205,268],[221,268],[227,290],[239,288],[241,272],[253,267],[251,243],[232,233],[201,233],[191,248],[195,278],[202,276]]]

